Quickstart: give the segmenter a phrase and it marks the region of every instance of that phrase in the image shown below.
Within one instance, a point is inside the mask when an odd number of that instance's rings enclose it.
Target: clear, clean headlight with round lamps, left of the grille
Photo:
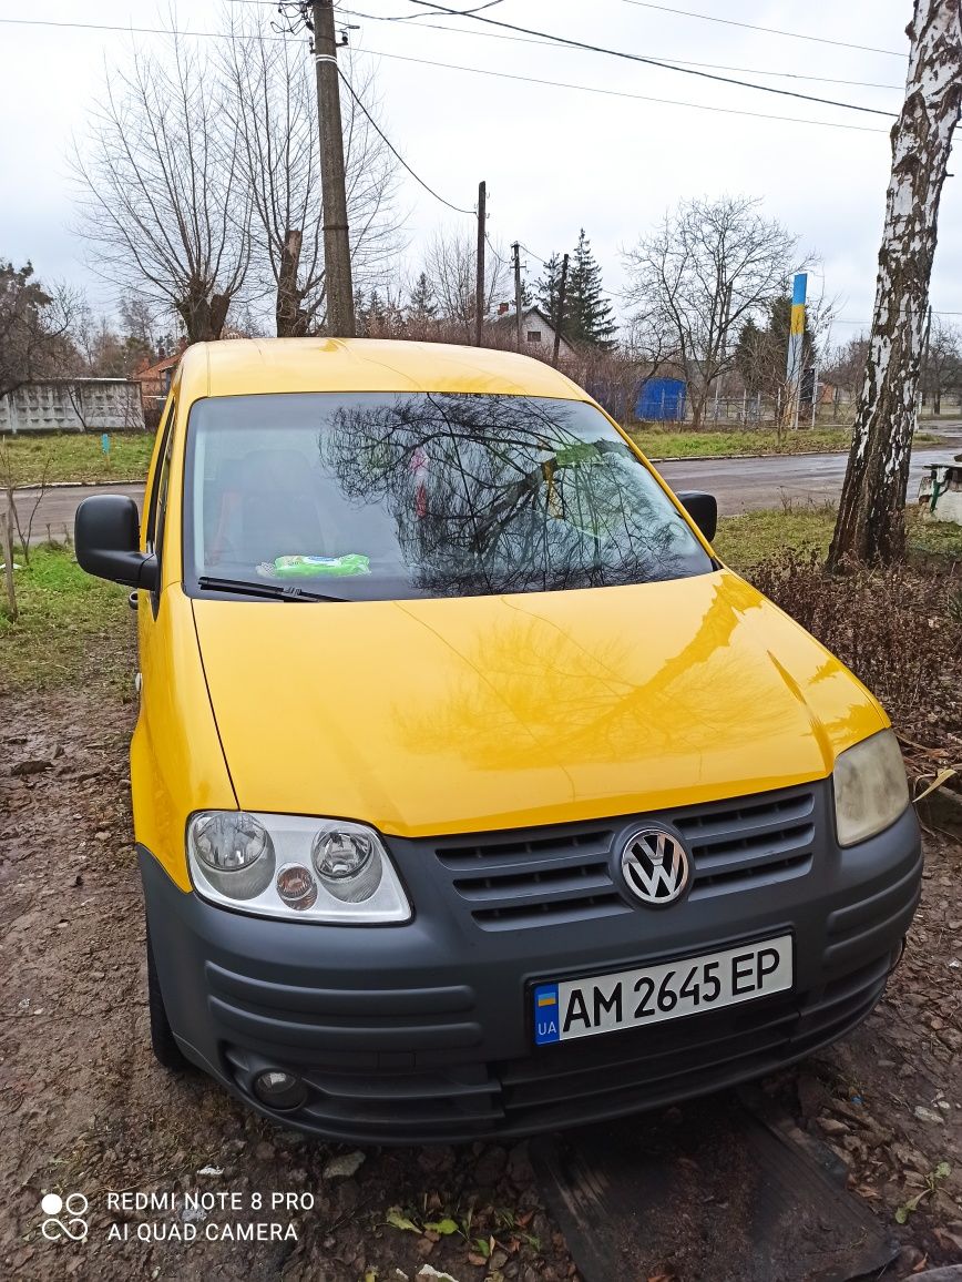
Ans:
[[[411,917],[388,853],[361,823],[201,810],[187,824],[187,863],[202,899],[259,917],[339,926]]]

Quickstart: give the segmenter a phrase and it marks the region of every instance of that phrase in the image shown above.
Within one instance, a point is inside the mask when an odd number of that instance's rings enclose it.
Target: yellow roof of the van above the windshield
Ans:
[[[434,391],[589,397],[541,360],[492,347],[383,338],[232,338],[183,354],[182,399],[259,392]]]

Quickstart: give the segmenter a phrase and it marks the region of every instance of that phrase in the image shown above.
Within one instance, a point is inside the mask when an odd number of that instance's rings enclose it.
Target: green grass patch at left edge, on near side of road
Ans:
[[[29,565],[15,555],[14,565],[20,567],[14,570],[17,623],[10,622],[0,573],[0,692],[77,679],[97,656],[108,681],[127,682],[135,618],[127,590],[85,574],[73,547],[60,544],[33,547]]]

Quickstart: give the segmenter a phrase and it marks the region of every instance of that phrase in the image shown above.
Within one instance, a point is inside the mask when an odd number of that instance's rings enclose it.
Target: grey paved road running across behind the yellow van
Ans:
[[[912,472],[908,496],[918,492],[918,479],[925,463],[950,459],[962,450],[962,435],[947,435],[939,446],[920,446],[912,454]],[[661,464],[665,479],[676,490],[708,490],[717,495],[719,510],[724,517],[758,508],[780,508],[790,499],[794,504],[836,500],[845,476],[844,454],[783,455],[758,459],[702,459]],[[127,494],[140,504],[143,487],[133,486],[69,486],[49,490],[41,500],[33,520],[36,541],[47,537],[47,526],[54,538],[63,538],[64,531],[73,531],[73,514],[81,499],[90,494]],[[29,515],[36,500],[35,490],[18,491],[17,506],[22,519]]]

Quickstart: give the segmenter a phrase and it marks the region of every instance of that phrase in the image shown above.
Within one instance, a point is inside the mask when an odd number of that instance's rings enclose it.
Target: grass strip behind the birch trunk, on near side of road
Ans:
[[[787,549],[817,551],[824,556],[835,528],[831,504],[746,512],[722,517],[715,536],[715,550],[734,569],[751,569]],[[942,553],[962,559],[962,526],[924,522],[915,508],[908,509],[909,551]]]

